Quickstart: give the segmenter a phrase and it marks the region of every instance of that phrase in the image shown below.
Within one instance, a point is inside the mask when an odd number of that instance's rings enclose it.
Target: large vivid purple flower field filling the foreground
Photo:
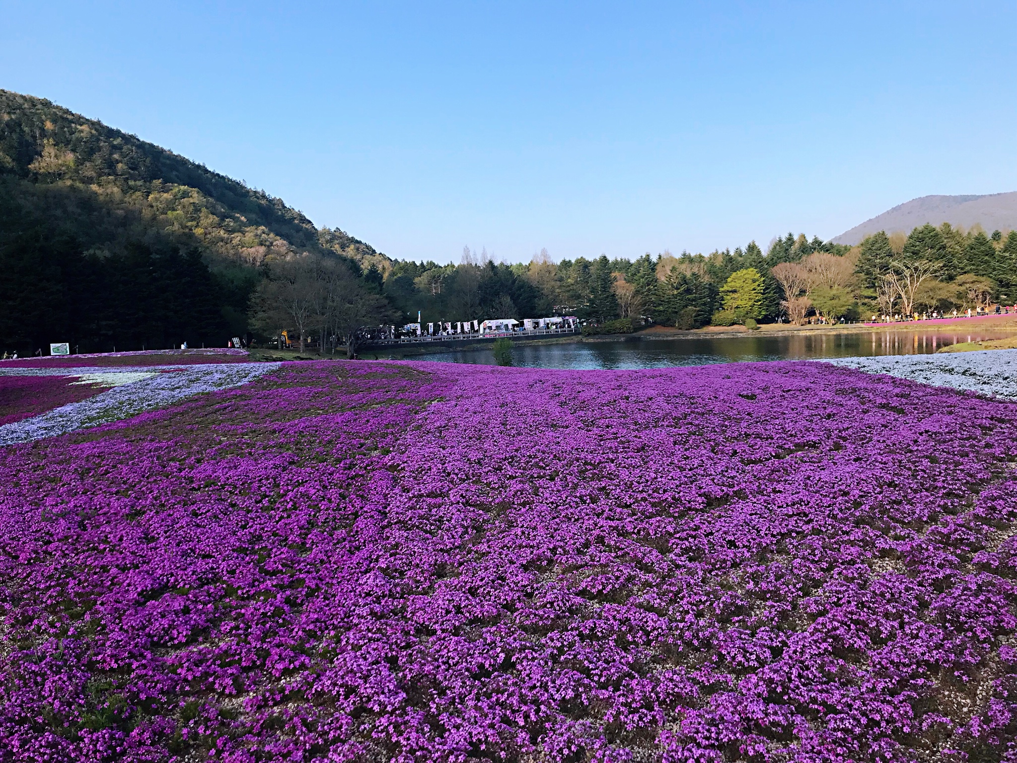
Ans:
[[[286,363],[0,449],[0,761],[1017,760],[1017,407]]]

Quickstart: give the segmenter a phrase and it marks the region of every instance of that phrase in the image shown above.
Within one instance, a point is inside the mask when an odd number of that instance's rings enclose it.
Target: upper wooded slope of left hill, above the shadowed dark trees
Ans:
[[[214,270],[288,252],[334,252],[386,270],[343,231],[317,230],[282,199],[44,99],[0,90],[0,219],[16,235],[40,218],[93,250],[128,240],[199,246]]]

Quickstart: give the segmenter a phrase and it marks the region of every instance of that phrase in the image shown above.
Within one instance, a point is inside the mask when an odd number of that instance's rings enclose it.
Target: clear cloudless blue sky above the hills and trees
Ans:
[[[0,87],[394,257],[829,239],[1017,190],[1017,4],[0,0]]]

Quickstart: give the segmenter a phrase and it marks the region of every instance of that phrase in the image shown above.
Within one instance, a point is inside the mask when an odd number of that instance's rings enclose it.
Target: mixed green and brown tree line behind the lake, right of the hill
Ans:
[[[1017,298],[1017,232],[924,225],[858,246],[803,234],[710,254],[496,263],[464,249],[459,265],[396,260],[375,276],[400,320],[458,321],[570,312],[695,329],[746,318],[837,321],[985,307]],[[1012,294],[1011,294],[1012,293]]]

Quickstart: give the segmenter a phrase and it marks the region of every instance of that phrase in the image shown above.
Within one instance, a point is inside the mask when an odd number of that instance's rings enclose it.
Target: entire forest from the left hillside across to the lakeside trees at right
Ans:
[[[840,321],[1017,298],[1017,232],[944,223],[848,247],[458,263],[393,259],[339,229],[48,101],[0,91],[0,349],[164,348],[286,330],[355,352],[366,328],[575,314],[591,331]]]

